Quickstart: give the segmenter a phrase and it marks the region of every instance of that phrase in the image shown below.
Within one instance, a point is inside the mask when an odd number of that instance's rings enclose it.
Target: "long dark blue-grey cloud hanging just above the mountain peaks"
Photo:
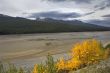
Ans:
[[[29,18],[54,18],[54,19],[66,19],[66,18],[77,18],[80,17],[81,14],[71,12],[71,13],[64,13],[58,11],[49,11],[49,12],[40,12],[40,13],[32,13]]]

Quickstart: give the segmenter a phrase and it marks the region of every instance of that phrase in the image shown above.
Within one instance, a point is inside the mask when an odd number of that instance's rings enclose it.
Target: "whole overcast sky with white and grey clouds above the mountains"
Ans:
[[[0,14],[110,26],[110,0],[0,0]]]

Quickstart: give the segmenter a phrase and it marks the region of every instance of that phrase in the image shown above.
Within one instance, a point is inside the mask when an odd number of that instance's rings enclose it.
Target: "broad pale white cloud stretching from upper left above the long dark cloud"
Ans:
[[[52,3],[43,0],[0,0],[0,13],[10,16],[24,16],[23,13],[38,13],[47,11],[81,11],[71,2]]]

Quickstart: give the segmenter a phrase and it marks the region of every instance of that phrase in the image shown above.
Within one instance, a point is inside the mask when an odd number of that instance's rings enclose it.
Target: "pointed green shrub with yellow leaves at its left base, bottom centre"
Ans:
[[[57,68],[53,57],[48,54],[46,64],[36,64],[34,66],[33,73],[57,73]]]

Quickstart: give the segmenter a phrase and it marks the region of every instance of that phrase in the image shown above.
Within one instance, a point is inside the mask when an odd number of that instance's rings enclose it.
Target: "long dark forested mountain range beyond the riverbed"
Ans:
[[[29,20],[0,14],[0,34],[56,33],[108,31],[110,28],[84,23],[78,20],[63,21],[50,18]]]

